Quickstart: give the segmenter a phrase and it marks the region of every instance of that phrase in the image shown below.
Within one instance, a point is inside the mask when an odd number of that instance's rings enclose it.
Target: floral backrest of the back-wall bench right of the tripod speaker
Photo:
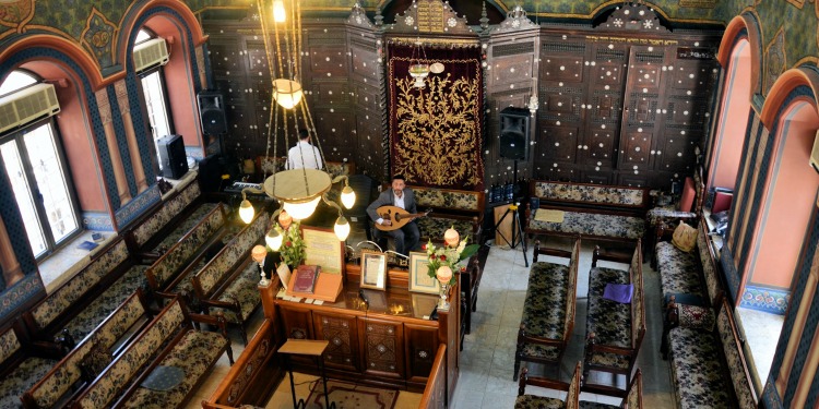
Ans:
[[[534,195],[546,201],[641,207],[648,194],[643,189],[566,182],[535,181]]]

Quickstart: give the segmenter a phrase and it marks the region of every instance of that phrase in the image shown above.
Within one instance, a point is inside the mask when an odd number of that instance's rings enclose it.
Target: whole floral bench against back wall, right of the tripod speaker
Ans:
[[[645,188],[608,187],[591,183],[532,180],[532,197],[539,207],[526,204],[525,230],[530,236],[554,234],[584,239],[637,241],[645,234],[645,212],[650,206]],[[554,210],[555,220],[537,220],[538,212]],[[558,221],[562,217],[562,221]]]

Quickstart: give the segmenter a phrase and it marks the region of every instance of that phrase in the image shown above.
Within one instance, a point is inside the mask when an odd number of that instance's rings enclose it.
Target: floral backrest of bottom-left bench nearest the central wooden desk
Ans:
[[[161,352],[161,346],[179,332],[185,321],[182,306],[171,302],[152,325],[129,344],[127,349],[103,372],[78,398],[76,407],[86,409],[105,408],[120,396],[136,377],[145,364]]]

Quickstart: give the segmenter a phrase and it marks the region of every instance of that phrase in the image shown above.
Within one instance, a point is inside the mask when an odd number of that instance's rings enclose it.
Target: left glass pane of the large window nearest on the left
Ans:
[[[25,179],[20,152],[17,152],[14,141],[0,146],[0,152],[2,152],[3,161],[5,163],[5,171],[9,173],[9,179],[11,179],[14,199],[17,202],[20,214],[23,216],[23,225],[28,236],[28,243],[32,245],[32,251],[36,257],[46,252],[46,238],[37,219],[37,212],[35,210],[32,195],[28,193],[31,192],[31,188]]]

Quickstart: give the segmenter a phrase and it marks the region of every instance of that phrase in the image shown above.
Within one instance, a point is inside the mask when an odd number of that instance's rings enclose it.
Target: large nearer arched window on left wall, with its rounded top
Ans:
[[[0,84],[0,101],[21,100],[39,83],[40,79],[26,71],[13,71]],[[37,258],[82,230],[62,152],[52,117],[23,122],[0,134],[3,166]]]

